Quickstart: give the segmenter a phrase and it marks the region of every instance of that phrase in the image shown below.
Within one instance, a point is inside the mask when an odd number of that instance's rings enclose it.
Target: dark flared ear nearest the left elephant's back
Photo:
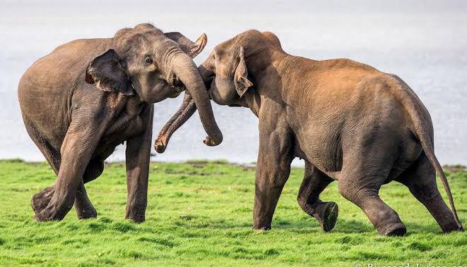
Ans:
[[[95,83],[97,88],[105,92],[121,92],[126,96],[134,94],[131,82],[114,49],[107,50],[89,63],[85,81]]]

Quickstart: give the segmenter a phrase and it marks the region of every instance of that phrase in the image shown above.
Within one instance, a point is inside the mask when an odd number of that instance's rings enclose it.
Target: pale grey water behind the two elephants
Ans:
[[[208,35],[200,63],[213,46],[249,28],[271,30],[285,51],[314,59],[352,58],[405,80],[427,106],[442,163],[467,164],[467,13],[461,1],[329,1],[218,4],[197,1],[0,1],[0,158],[42,161],[25,131],[16,88],[37,58],[71,39],[111,37],[122,27],[152,22],[196,39]],[[246,6],[248,7],[246,8]],[[90,8],[92,6],[92,8]],[[182,97],[155,105],[154,135],[177,110]],[[218,147],[202,144],[205,133],[194,116],[173,135],[158,161],[227,159],[256,161],[258,119],[247,108],[213,104],[224,133]],[[124,146],[110,160],[124,159]],[[296,162],[300,164],[300,162]]]

